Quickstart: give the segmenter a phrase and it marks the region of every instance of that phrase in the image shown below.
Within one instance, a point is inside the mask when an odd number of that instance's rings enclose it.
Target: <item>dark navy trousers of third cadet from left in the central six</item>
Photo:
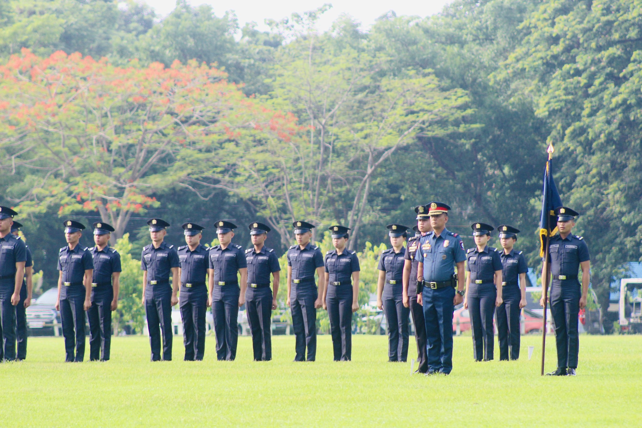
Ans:
[[[237,284],[214,285],[212,314],[216,334],[216,358],[234,361],[239,338],[238,314],[241,289]]]

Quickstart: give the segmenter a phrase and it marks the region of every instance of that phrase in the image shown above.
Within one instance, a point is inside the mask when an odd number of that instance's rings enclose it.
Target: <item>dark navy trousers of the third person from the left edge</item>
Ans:
[[[85,359],[85,286],[61,286],[60,318],[65,338],[65,361]],[[75,348],[75,353],[74,353]]]

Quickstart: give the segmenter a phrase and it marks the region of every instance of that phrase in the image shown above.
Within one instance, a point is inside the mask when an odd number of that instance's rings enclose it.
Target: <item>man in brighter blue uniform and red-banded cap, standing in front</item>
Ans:
[[[447,375],[453,370],[453,312],[464,296],[464,242],[446,229],[449,209],[442,202],[429,203],[433,230],[419,239],[415,255],[417,286],[423,287],[417,302],[423,305],[426,318],[428,375]]]

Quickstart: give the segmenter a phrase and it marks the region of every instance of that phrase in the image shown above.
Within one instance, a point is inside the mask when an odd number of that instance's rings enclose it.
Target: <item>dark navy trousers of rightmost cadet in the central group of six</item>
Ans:
[[[334,361],[352,359],[352,285],[329,285],[325,295]]]

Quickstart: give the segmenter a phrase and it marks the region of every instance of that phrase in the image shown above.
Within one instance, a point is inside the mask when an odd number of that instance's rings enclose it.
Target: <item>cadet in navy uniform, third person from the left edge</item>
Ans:
[[[56,311],[62,319],[65,338],[65,361],[82,362],[85,359],[85,311],[91,307],[91,279],[94,261],[87,247],[78,244],[85,226],[74,220],[65,220],[67,246],[58,253],[58,299]],[[75,335],[75,336],[74,336]],[[74,355],[74,345],[76,354]]]

